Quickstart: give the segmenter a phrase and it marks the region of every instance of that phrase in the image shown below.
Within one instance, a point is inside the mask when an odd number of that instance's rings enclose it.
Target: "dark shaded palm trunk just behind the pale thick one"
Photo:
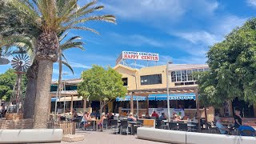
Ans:
[[[34,115],[34,104],[37,90],[37,80],[38,80],[38,61],[34,60],[30,69],[26,73],[26,78],[28,82],[26,85],[26,94],[24,100],[24,111],[23,118],[33,118]]]

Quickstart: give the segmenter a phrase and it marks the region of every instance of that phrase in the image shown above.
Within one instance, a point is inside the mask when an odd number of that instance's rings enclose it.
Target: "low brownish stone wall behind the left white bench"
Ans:
[[[33,119],[5,120],[0,119],[1,130],[32,129]]]

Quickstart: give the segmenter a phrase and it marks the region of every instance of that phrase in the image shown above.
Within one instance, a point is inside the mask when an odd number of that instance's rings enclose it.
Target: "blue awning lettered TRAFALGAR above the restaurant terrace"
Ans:
[[[150,94],[150,96],[154,96],[157,101],[167,100],[167,94]],[[188,100],[188,99],[194,99],[195,100],[195,94],[194,93],[169,94],[169,99],[170,100]]]

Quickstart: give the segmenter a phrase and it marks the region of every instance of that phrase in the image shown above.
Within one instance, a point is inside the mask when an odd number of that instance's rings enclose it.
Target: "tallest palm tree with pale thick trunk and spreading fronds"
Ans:
[[[58,60],[58,34],[70,29],[98,33],[81,24],[94,20],[115,23],[115,18],[113,15],[89,15],[103,9],[104,6],[95,6],[97,1],[81,7],[78,6],[78,0],[7,0],[7,2],[19,11],[20,17],[30,20],[28,22],[42,30],[35,47],[39,77],[36,92],[37,104],[34,106],[34,128],[46,128],[50,111],[53,62]]]

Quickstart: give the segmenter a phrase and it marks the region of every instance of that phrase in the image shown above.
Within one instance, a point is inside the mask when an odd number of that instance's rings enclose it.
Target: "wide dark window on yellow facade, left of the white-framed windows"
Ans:
[[[141,76],[141,85],[154,85],[162,83],[162,74]]]

